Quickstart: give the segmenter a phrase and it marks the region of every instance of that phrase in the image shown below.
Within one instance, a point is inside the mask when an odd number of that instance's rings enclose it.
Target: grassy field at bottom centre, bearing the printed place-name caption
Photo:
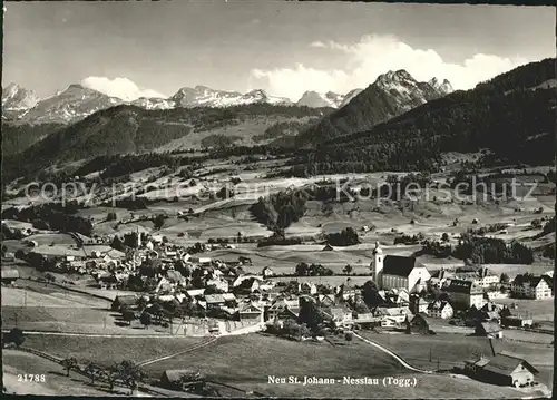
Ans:
[[[342,341],[339,341],[342,343]],[[343,344],[343,345],[342,345]],[[516,397],[506,389],[455,379],[446,375],[409,374],[400,364],[361,341],[333,347],[329,343],[292,342],[273,336],[250,334],[222,338],[195,353],[177,357],[152,365],[147,372],[158,377],[166,369],[195,368],[209,379],[243,390],[266,396],[287,397],[352,397],[352,398],[488,398]],[[240,368],[238,368],[240,367]],[[416,378],[417,387],[380,386],[270,384],[268,377],[404,377]]]

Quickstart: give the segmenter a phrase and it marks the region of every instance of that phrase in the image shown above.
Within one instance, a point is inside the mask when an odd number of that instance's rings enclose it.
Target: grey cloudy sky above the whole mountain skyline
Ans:
[[[4,3],[2,86],[168,97],[204,85],[346,94],[405,69],[455,89],[555,57],[555,9],[198,0]]]

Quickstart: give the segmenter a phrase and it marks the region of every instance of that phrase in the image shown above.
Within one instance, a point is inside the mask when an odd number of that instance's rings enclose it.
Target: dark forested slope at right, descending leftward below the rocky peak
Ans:
[[[433,99],[371,129],[338,136],[323,134],[329,139],[297,150],[292,173],[434,170],[441,165],[442,152],[480,148],[511,163],[553,164],[555,90],[556,59],[528,64],[475,89]],[[331,124],[321,126],[334,130]]]

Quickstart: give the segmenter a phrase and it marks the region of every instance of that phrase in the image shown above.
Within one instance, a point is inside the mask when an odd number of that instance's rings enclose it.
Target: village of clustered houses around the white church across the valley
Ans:
[[[479,265],[430,273],[413,256],[383,254],[377,242],[369,254],[369,280],[363,285],[352,283],[348,265],[344,282],[333,286],[320,283],[317,277],[324,273],[321,265],[296,266],[296,272],[305,270],[310,276],[299,281],[295,274],[280,276],[270,266],[258,267],[247,256],[226,262],[208,256],[218,248],[235,248],[231,243],[185,247],[139,231],[121,240],[115,236],[111,247],[77,238],[80,245],[63,256],[38,254],[33,252],[37,243],[29,240],[25,251],[2,248],[2,263],[25,260],[46,272],[38,281],[69,289],[74,285],[71,290],[79,289],[72,282],[57,281],[55,274],[90,276],[96,293],[118,293],[111,310],[120,314],[120,326],[158,326],[177,338],[258,332],[333,343],[333,338],[349,342],[362,332],[373,333],[371,338],[450,333],[483,336],[491,344],[509,332],[550,333],[531,315],[517,313],[512,299],[553,299],[551,272],[524,273],[514,280]],[[120,241],[131,246],[125,252],[114,248]],[[322,251],[334,252],[334,247],[326,244]],[[316,277],[313,282],[312,275]],[[17,286],[18,279],[17,269],[2,267],[3,285]],[[492,384],[538,384],[538,371],[527,354],[520,358],[497,352],[494,344],[491,350],[490,354],[460,360],[458,370]]]

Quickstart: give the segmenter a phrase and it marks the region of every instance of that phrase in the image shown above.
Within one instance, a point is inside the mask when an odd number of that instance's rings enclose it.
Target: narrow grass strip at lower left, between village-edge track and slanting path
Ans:
[[[184,351],[204,338],[79,338],[28,335],[26,347],[60,358],[75,357],[109,367],[130,360],[137,363]],[[209,344],[211,347],[212,344]],[[158,377],[156,377],[158,378]]]

